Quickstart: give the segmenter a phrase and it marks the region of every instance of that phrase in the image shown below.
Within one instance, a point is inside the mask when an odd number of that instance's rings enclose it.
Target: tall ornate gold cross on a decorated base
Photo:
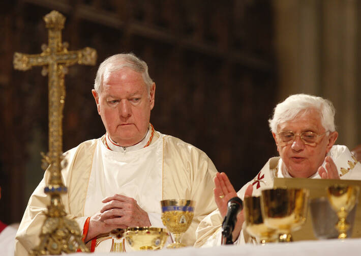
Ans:
[[[78,224],[66,217],[61,194],[67,193],[61,177],[61,170],[67,165],[63,160],[63,108],[65,103],[64,76],[68,66],[74,64],[95,65],[97,51],[85,47],[81,50],[68,51],[68,44],[62,42],[62,30],[65,17],[51,11],[44,16],[48,29],[48,45],[42,45],[43,52],[40,54],[14,53],[14,68],[28,70],[32,67],[42,66],[42,75],[49,76],[49,152],[42,153],[42,168],[48,169],[50,179],[44,192],[50,195],[50,205],[45,213],[46,219],[41,228],[40,244],[35,247],[31,254],[47,255],[71,253],[77,249],[87,251],[81,240]]]

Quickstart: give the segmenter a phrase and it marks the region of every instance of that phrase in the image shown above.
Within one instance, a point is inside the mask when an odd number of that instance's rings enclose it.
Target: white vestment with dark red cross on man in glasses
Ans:
[[[340,179],[361,180],[361,164],[350,153],[346,146],[335,145],[327,154],[331,156],[337,166]],[[324,164],[324,163],[323,163]],[[273,157],[263,166],[257,176],[244,185],[237,195],[245,196],[247,187],[252,184],[252,196],[259,196],[262,189],[273,188],[274,178],[291,178],[284,168],[280,157]],[[311,176],[312,179],[319,179],[318,172]],[[196,231],[196,247],[211,247],[221,245],[223,218],[219,210],[207,215],[199,224]],[[242,229],[234,244],[243,244],[251,241],[251,237]]]

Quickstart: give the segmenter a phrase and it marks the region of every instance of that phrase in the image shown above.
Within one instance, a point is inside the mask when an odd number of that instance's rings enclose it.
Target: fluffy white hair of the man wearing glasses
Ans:
[[[299,112],[316,109],[321,116],[321,124],[326,131],[335,131],[335,107],[329,100],[307,94],[289,96],[277,104],[273,118],[268,120],[269,128],[277,133],[277,126],[294,119]]]

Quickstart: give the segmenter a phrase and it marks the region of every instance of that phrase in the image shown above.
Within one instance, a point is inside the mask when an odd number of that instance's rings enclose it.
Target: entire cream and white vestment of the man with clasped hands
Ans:
[[[193,245],[199,222],[217,208],[213,198],[217,170],[212,161],[194,146],[159,132],[154,133],[148,147],[126,152],[107,149],[105,140],[105,136],[88,140],[65,153],[68,165],[62,177],[68,193],[61,197],[67,216],[77,221],[82,231],[86,218],[103,206],[101,200],[118,193],[133,197],[148,213],[152,225],[162,227],[161,200],[194,200],[194,218],[182,239],[186,245]],[[48,178],[49,172],[45,172],[29,200],[16,236],[16,255],[27,255],[40,242],[49,204],[49,196],[44,193]],[[96,251],[127,250],[123,239],[108,235],[98,238]]]

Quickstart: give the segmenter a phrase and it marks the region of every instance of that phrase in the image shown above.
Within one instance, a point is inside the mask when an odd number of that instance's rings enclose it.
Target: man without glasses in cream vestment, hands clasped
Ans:
[[[68,165],[62,170],[68,187],[63,204],[92,251],[127,251],[124,239],[109,232],[163,227],[160,201],[174,198],[196,202],[193,222],[183,236],[183,243],[192,246],[199,222],[217,209],[212,161],[149,123],[155,90],[147,65],[132,53],[113,55],[99,66],[92,93],[106,133],[66,152]],[[16,236],[16,255],[26,255],[40,242],[48,177],[45,172],[29,200]]]

